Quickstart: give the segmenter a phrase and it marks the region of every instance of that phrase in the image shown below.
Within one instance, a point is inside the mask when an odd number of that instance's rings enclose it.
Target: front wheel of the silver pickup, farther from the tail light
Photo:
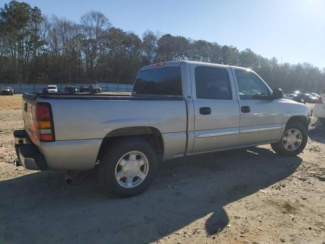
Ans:
[[[287,147],[287,148],[289,148],[289,149],[287,149],[284,145],[285,144],[288,145],[288,144],[285,143],[286,140],[284,138],[293,132],[294,133],[297,132],[297,130],[300,132],[300,135],[298,134],[296,136],[296,139],[294,139],[294,140],[301,139],[300,144],[298,145],[298,142],[297,142],[297,144],[296,144],[296,142],[294,142],[294,144],[291,145],[290,147]],[[301,138],[299,138],[300,136],[301,136]],[[294,138],[294,136],[291,136],[291,137]],[[291,140],[290,142],[293,142],[293,139],[290,139],[290,140]],[[275,151],[275,153],[277,153],[278,155],[297,156],[305,149],[307,140],[308,140],[308,131],[307,131],[307,128],[305,127],[305,125],[302,123],[299,123],[297,121],[293,121],[286,125],[284,133],[281,136],[281,140],[276,143],[271,143],[271,147]],[[298,146],[298,147],[295,148],[296,146]]]

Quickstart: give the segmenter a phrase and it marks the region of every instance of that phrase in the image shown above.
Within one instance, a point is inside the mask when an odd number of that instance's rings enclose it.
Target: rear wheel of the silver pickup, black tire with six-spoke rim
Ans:
[[[121,139],[104,150],[100,157],[99,179],[107,191],[120,197],[132,197],[151,185],[157,170],[157,159],[146,141],[137,138]],[[140,166],[138,161],[144,162],[143,165]]]

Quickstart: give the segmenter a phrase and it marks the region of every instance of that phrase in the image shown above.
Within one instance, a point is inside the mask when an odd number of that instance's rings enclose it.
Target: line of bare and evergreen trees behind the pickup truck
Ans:
[[[76,23],[44,16],[24,2],[0,8],[0,83],[132,84],[143,66],[184,59],[250,68],[285,92],[325,87],[325,73],[311,64],[279,64],[248,48],[149,30],[139,37],[112,26],[101,12],[85,13]]]

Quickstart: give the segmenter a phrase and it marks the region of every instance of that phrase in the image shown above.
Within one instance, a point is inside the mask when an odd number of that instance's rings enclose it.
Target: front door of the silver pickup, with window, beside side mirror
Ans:
[[[270,87],[254,72],[232,67],[240,107],[238,146],[274,142],[285,124],[283,100],[272,100]]]

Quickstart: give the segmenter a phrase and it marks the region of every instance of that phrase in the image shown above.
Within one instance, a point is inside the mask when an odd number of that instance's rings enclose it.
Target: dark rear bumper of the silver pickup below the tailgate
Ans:
[[[14,138],[16,154],[21,166],[30,170],[46,170],[48,168],[44,156],[30,141],[24,130],[14,131]]]

